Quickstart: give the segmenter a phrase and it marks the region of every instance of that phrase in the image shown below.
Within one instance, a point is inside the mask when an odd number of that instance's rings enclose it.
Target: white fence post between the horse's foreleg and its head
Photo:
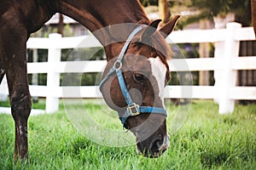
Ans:
[[[61,34],[49,34],[49,40],[55,44],[61,38]],[[58,111],[59,99],[54,96],[55,89],[60,86],[60,73],[55,72],[55,63],[61,61],[61,49],[49,48],[48,49],[48,64],[49,69],[47,72],[47,88],[48,94],[46,97],[45,110],[47,113]]]

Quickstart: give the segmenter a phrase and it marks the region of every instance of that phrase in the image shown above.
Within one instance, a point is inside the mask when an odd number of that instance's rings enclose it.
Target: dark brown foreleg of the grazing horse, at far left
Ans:
[[[26,71],[26,33],[17,29],[6,32],[3,37],[9,39],[5,41],[9,43],[4,46],[4,70],[9,87],[11,112],[15,120],[15,161],[19,157],[23,161],[28,158],[27,120],[32,105]]]

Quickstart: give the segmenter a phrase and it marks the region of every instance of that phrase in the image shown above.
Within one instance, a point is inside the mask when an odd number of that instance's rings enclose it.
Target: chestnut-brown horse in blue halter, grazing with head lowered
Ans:
[[[137,0],[1,0],[0,81],[6,75],[15,121],[15,161],[29,159],[27,121],[32,102],[26,41],[55,13],[77,20],[102,43],[108,61],[101,84],[103,98],[136,136],[138,152],[160,156],[169,146],[163,91],[170,79],[171,49],[165,38],[179,15],[158,28],[160,20],[150,22]],[[113,28],[129,23],[132,26]]]

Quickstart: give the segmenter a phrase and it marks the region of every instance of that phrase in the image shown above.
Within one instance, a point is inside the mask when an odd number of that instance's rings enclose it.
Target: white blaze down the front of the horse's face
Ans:
[[[158,88],[159,88],[159,97],[162,101],[163,107],[164,105],[164,91],[165,91],[165,81],[166,81],[166,65],[163,64],[161,59],[159,57],[156,58],[150,58],[148,59],[150,61],[152,75],[155,77]]]

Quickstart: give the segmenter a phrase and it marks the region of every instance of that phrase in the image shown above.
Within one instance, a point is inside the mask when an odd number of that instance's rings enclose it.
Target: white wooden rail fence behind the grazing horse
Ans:
[[[174,31],[167,38],[168,43],[214,42],[214,58],[172,59],[171,71],[214,71],[215,86],[167,86],[165,98],[217,99],[219,113],[234,110],[236,99],[256,99],[256,87],[237,87],[238,70],[256,70],[256,57],[238,57],[239,42],[254,40],[253,28],[241,28],[238,23],[227,24],[226,29]],[[90,43],[88,43],[90,42]],[[61,62],[63,48],[101,47],[95,37],[61,37],[51,34],[49,38],[32,37],[27,48],[48,49],[48,62],[28,63],[28,73],[47,73],[47,86],[30,86],[32,96],[46,97],[43,112],[58,110],[59,98],[102,98],[98,87],[60,87],[61,73],[101,72],[106,61]],[[184,65],[185,64],[185,65]],[[86,66],[85,66],[86,65]],[[79,90],[78,90],[79,89]],[[73,93],[73,92],[78,92]],[[65,93],[63,93],[65,92]],[[184,93],[185,92],[185,93]],[[189,93],[186,93],[189,92]],[[6,84],[0,86],[0,94],[7,95]],[[0,108],[1,112],[10,112]],[[42,111],[39,111],[42,112]],[[36,114],[37,111],[32,111]]]

